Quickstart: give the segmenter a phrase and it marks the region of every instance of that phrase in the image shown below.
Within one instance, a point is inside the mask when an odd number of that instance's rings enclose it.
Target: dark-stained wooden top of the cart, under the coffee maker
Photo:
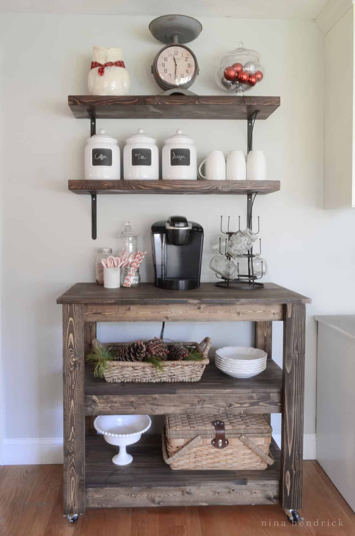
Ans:
[[[265,283],[264,288],[244,290],[220,288],[214,283],[202,283],[191,291],[166,291],[153,283],[136,288],[103,288],[96,283],[77,283],[58,297],[57,303],[92,304],[167,304],[167,303],[310,303],[310,299],[287,288]]]

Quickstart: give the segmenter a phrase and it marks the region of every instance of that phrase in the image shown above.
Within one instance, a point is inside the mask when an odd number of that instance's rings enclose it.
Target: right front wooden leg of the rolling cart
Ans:
[[[283,510],[302,508],[305,323],[305,304],[288,303],[284,306],[280,475],[280,505]]]

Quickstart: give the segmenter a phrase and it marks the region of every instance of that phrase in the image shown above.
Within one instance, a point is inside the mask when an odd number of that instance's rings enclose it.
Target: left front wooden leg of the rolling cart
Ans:
[[[85,512],[84,308],[63,305],[64,515]]]

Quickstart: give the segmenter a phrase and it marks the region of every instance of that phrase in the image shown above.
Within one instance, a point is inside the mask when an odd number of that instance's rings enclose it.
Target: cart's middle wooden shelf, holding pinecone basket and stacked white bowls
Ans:
[[[223,374],[211,361],[194,383],[107,383],[85,367],[86,415],[279,413],[281,393],[282,369],[271,359],[261,374],[246,379]]]

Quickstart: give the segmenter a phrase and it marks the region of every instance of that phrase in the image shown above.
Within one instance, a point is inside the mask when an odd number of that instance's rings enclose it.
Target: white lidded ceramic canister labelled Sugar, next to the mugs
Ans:
[[[165,140],[162,148],[162,178],[197,179],[197,158],[194,140],[184,136],[182,130]]]

